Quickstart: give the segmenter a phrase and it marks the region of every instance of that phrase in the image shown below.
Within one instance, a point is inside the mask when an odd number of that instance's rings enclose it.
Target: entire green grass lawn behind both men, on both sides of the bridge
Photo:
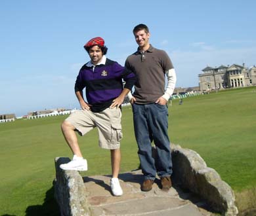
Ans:
[[[256,87],[173,100],[171,142],[198,152],[235,192],[256,186]],[[121,172],[139,166],[133,115],[123,108]],[[54,158],[72,153],[60,131],[67,116],[0,124],[0,215],[58,215],[53,198]],[[97,131],[79,137],[89,171],[110,174],[110,152],[100,149]]]

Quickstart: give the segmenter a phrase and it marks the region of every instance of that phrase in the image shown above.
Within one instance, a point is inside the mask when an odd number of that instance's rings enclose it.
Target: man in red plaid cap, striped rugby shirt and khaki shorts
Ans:
[[[123,190],[119,185],[118,173],[121,160],[121,103],[130,92],[135,82],[135,75],[119,63],[106,58],[108,48],[104,39],[95,37],[85,46],[91,61],[81,67],[75,81],[75,95],[81,110],[75,111],[62,122],[62,132],[74,153],[68,164],[60,165],[63,170],[87,170],[87,160],[83,158],[77,136],[85,135],[93,128],[98,128],[99,146],[110,149],[112,163],[112,179],[110,186],[114,196],[121,196]],[[125,85],[123,87],[123,80]],[[87,101],[83,98],[86,90]]]

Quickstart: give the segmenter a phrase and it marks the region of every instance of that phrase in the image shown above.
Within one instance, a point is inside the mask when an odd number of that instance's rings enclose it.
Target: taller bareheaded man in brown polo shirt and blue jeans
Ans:
[[[141,190],[152,189],[156,174],[162,189],[171,188],[171,148],[168,137],[167,101],[176,83],[175,69],[167,53],[150,45],[150,31],[144,24],[133,29],[137,51],[128,56],[125,67],[136,75],[135,92],[130,94],[133,106],[135,137],[144,181]],[[167,88],[165,89],[165,75]],[[156,158],[152,157],[152,141]]]

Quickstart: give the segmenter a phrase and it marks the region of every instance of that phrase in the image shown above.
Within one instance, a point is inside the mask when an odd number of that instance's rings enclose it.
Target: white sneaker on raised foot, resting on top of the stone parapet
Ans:
[[[70,162],[68,162],[67,164],[61,164],[60,168],[62,168],[62,170],[86,171],[87,160],[74,155],[73,159]]]

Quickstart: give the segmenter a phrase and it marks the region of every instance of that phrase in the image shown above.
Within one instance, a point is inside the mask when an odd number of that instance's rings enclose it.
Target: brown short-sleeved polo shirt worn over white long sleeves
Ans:
[[[144,55],[144,56],[142,56]],[[150,45],[143,54],[139,50],[128,56],[125,67],[136,75],[136,103],[154,103],[165,92],[165,71],[173,69],[173,63],[164,50]]]

